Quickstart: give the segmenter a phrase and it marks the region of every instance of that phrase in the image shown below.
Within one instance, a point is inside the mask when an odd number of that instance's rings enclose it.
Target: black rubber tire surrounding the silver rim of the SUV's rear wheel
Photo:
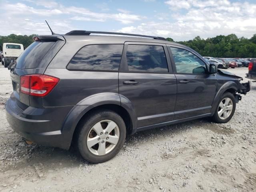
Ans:
[[[91,128],[102,120],[110,120],[116,123],[119,128],[119,140],[116,146],[107,154],[96,155],[93,154],[87,146],[87,137],[90,134]],[[90,163],[102,163],[112,159],[120,151],[124,145],[126,138],[126,126],[124,120],[115,112],[111,110],[98,110],[91,113],[85,118],[78,127],[76,132],[77,148],[81,156]],[[107,140],[106,140],[107,143]]]

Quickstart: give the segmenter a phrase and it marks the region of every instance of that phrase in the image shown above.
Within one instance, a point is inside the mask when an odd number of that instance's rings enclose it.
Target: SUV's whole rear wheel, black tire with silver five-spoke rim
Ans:
[[[77,146],[90,163],[110,160],[120,151],[126,138],[124,120],[111,110],[96,111],[80,124]]]

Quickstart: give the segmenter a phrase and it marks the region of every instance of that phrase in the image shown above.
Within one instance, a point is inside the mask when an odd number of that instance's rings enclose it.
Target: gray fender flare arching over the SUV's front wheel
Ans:
[[[224,92],[226,92],[226,90],[228,89],[232,89],[234,91],[237,90],[237,84],[234,82],[234,81],[228,81],[226,83],[224,83],[220,89],[218,90],[218,92],[216,93],[215,97],[214,97],[214,100],[212,102],[212,110],[211,110],[211,113],[214,114],[215,110],[216,110],[216,107],[218,106],[218,102],[220,100],[220,97],[222,96],[222,94]]]

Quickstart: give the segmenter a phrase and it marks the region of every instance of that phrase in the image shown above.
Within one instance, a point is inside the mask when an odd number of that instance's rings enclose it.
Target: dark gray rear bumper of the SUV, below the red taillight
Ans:
[[[5,108],[8,123],[20,136],[44,146],[70,147],[72,135],[63,134],[61,130],[70,106],[34,108],[11,97]]]

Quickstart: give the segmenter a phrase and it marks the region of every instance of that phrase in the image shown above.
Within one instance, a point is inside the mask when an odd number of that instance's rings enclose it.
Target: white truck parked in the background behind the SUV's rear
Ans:
[[[18,43],[4,43],[2,64],[8,67],[12,60],[16,60],[24,51],[23,45]]]

